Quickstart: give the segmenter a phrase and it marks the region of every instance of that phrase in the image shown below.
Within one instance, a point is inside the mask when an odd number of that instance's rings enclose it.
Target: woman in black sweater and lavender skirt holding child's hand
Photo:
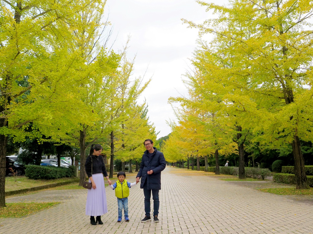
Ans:
[[[90,155],[86,158],[85,163],[86,174],[89,177],[89,182],[92,184],[92,188],[88,189],[87,193],[86,215],[90,215],[90,223],[92,225],[96,225],[97,222],[103,224],[101,215],[108,212],[103,175],[108,180],[108,183],[112,183],[109,180],[108,173],[106,173],[103,158],[99,156],[101,152],[102,146],[100,144],[92,144]]]

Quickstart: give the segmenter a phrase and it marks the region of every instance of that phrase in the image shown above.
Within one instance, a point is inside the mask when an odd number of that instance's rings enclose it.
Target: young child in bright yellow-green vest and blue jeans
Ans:
[[[125,221],[129,222],[128,218],[128,196],[129,196],[129,188],[131,186],[135,186],[138,181],[134,183],[129,183],[126,178],[125,172],[120,171],[117,173],[118,181],[116,181],[113,185],[109,183],[109,187],[115,190],[115,196],[117,197],[117,204],[118,204],[118,219],[117,222],[122,222],[122,210],[124,207],[124,216]]]

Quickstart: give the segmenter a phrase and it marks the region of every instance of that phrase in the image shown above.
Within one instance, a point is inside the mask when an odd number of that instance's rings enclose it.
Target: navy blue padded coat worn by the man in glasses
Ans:
[[[141,178],[140,188],[147,183],[147,189],[161,189],[161,171],[166,166],[165,158],[162,152],[153,147],[154,153],[149,161],[148,150],[146,150],[141,159],[140,169],[136,177]],[[153,173],[148,175],[147,172],[152,170]]]

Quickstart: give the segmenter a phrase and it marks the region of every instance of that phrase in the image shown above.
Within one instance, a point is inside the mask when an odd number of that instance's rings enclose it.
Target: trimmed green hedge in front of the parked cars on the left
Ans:
[[[75,166],[54,167],[54,166],[38,166],[27,165],[25,169],[25,176],[30,179],[57,179],[62,177],[71,177],[76,173]]]

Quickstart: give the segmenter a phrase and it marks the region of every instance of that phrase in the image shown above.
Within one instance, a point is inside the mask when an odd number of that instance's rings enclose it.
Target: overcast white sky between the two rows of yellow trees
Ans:
[[[208,0],[218,4],[226,0]],[[113,26],[113,49],[122,49],[131,36],[127,56],[136,54],[133,76],[152,81],[141,95],[149,105],[149,119],[157,138],[171,132],[166,121],[176,120],[169,97],[187,95],[182,75],[190,70],[188,58],[196,47],[198,30],[187,28],[181,18],[201,23],[212,17],[194,0],[107,0],[106,16]]]

